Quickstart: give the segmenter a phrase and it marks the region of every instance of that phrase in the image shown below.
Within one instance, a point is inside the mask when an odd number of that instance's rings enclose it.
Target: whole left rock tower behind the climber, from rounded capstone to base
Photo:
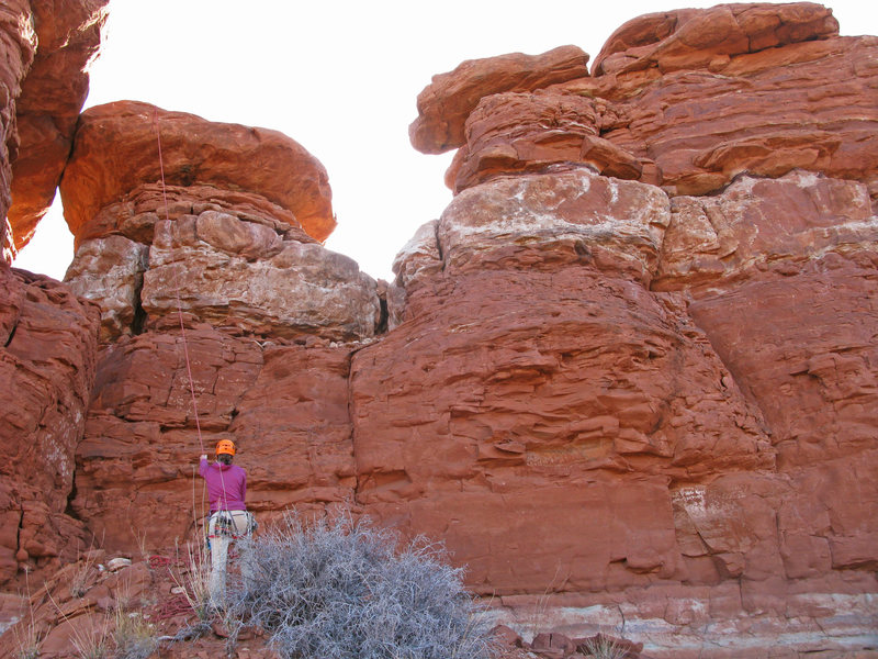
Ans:
[[[167,190],[148,157],[115,160],[120,135],[150,148],[156,115]],[[63,192],[79,247],[66,281],[100,304],[102,343],[71,509],[108,546],[188,537],[205,503],[199,494],[193,510],[195,458],[222,438],[250,456],[249,503],[268,517],[354,491],[350,351],[386,324],[378,284],[306,233],[333,220],[319,163],[278,133],[251,134],[142,103],[91,109],[77,134]],[[181,180],[202,141],[229,152]],[[254,158],[273,180],[245,166]]]

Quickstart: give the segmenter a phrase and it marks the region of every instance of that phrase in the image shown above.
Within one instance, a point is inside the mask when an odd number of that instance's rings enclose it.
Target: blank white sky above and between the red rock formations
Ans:
[[[451,200],[442,177],[452,154],[408,142],[432,75],[565,44],[594,60],[629,19],[717,3],[111,0],[86,107],[132,99],[289,135],[329,172],[338,227],[326,246],[391,280],[396,253]],[[826,4],[843,35],[878,34],[878,3]],[[60,279],[71,258],[58,198],[13,265]]]

